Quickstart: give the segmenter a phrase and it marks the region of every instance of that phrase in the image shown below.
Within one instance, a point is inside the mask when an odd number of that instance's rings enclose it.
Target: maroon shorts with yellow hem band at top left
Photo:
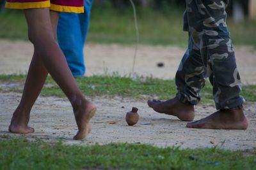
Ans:
[[[5,7],[20,10],[49,8],[52,11],[83,13],[84,0],[6,0]]]

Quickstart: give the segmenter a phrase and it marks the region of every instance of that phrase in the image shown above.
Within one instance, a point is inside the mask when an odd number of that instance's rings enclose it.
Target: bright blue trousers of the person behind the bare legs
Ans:
[[[83,76],[86,72],[83,47],[90,25],[92,1],[84,0],[84,13],[60,13],[58,42],[74,76]]]

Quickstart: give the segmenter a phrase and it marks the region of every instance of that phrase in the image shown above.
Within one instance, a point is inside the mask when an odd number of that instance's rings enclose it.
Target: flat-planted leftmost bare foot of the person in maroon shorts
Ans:
[[[28,127],[28,122],[29,113],[19,111],[19,108],[17,108],[13,113],[8,131],[16,134],[33,133],[35,129],[33,129],[32,127]]]

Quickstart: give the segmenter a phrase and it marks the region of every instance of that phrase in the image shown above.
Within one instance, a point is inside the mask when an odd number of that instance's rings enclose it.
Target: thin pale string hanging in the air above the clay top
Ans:
[[[135,67],[135,62],[136,62],[136,57],[137,57],[137,52],[138,52],[138,45],[140,41],[140,34],[139,34],[139,29],[138,29],[138,20],[137,20],[137,12],[135,5],[132,0],[130,0],[132,4],[132,9],[133,9],[133,17],[134,17],[134,25],[135,25],[135,30],[136,30],[136,47],[135,47],[135,52],[134,52],[134,57],[133,57],[133,63],[132,63],[132,77],[134,77],[134,67]]]

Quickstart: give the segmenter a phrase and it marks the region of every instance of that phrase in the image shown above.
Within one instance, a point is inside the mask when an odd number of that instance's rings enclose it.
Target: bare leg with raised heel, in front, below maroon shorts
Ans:
[[[65,57],[54,39],[54,31],[51,26],[56,27],[54,25],[57,24],[58,13],[51,13],[53,18],[51,22],[47,8],[24,11],[29,27],[29,39],[35,46],[35,53],[40,54],[36,57],[40,57],[47,71],[70,100],[79,129],[74,139],[83,139],[90,132],[89,120],[95,113],[96,107],[84,99],[70,69],[68,69]]]

